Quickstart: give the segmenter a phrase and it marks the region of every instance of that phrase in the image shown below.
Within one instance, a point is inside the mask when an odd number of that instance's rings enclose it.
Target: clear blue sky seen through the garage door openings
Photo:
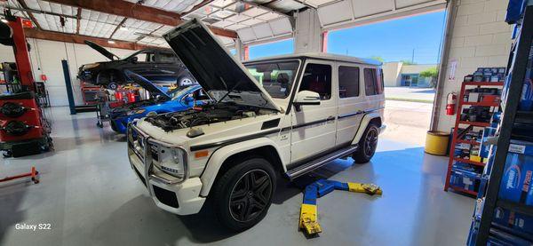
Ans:
[[[331,31],[328,52],[356,57],[379,56],[385,61],[411,60],[437,63],[444,12],[432,12],[397,20]],[[250,58],[293,52],[293,40],[250,47]]]

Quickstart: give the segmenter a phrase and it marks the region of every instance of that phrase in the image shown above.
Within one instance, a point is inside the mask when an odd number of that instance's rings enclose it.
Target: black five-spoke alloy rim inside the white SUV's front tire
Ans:
[[[239,222],[257,218],[269,205],[272,196],[272,180],[266,171],[246,172],[235,184],[229,201],[231,216]]]

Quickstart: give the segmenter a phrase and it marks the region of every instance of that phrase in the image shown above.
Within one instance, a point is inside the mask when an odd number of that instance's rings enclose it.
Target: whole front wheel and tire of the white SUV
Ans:
[[[213,190],[220,223],[237,232],[258,224],[272,203],[275,183],[274,169],[263,158],[246,159],[230,168]]]

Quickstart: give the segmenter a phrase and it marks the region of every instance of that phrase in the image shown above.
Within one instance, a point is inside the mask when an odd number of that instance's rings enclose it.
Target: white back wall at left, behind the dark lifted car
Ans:
[[[85,44],[62,43],[41,39],[28,38],[31,45],[30,59],[36,81],[40,81],[42,74],[48,81],[46,87],[50,93],[52,106],[67,106],[67,90],[61,60],[68,60],[70,78],[73,83],[76,105],[83,104],[79,81],[76,79],[78,67],[92,62],[107,60],[104,56],[91,49]],[[119,57],[130,54],[133,51],[108,48],[110,52]],[[67,51],[67,52],[66,52]],[[0,44],[0,61],[14,62],[15,57],[11,46]]]

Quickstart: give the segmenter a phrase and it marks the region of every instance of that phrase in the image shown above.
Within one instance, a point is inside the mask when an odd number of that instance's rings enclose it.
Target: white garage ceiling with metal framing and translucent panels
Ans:
[[[161,37],[180,20],[198,18],[212,28],[236,33],[243,44],[267,42],[293,36],[292,12],[304,8],[317,10],[324,29],[356,25],[375,17],[397,18],[413,10],[445,4],[445,0],[0,0],[0,11],[12,9],[15,15],[33,20],[44,31],[119,40],[135,44],[168,46]],[[145,12],[100,8],[106,6],[142,6],[166,16]],[[119,3],[122,2],[122,3]],[[377,4],[378,2],[378,4]],[[141,3],[141,4],[139,4]],[[77,6],[87,6],[86,8]],[[123,15],[116,15],[121,13]],[[143,17],[140,17],[143,15]],[[135,18],[133,18],[135,17]],[[61,25],[60,19],[65,20]],[[152,19],[151,19],[152,18]],[[148,21],[153,20],[153,21]],[[171,23],[174,23],[170,25]],[[219,36],[223,44],[233,46],[235,40]]]

